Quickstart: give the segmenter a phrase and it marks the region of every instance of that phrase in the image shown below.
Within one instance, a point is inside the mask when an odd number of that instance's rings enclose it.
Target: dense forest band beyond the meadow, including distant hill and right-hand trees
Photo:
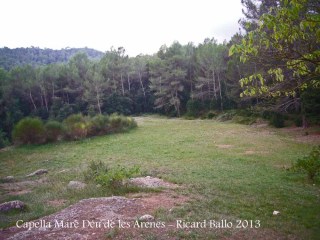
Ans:
[[[229,42],[174,42],[136,57],[124,47],[0,49],[1,135],[10,138],[25,116],[61,121],[73,113],[203,117],[250,109],[319,123],[319,2],[242,3],[245,33]]]

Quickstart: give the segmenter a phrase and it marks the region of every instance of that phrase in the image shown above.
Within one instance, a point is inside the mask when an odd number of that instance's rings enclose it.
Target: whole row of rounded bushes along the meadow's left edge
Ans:
[[[62,123],[48,121],[45,125],[39,118],[27,117],[14,127],[12,138],[16,144],[41,144],[124,132],[135,127],[137,123],[133,118],[118,114],[94,117],[72,114]]]

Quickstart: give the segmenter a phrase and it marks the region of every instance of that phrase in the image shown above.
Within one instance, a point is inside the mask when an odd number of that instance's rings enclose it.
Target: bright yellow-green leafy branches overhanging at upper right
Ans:
[[[241,79],[244,95],[296,95],[320,86],[320,15],[314,0],[282,0],[259,19],[241,44],[230,48],[245,62],[255,58],[268,66],[266,72]],[[257,84],[253,84],[257,82]]]

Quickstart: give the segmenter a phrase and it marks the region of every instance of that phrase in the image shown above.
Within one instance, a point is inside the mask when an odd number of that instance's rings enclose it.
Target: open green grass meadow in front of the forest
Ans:
[[[210,120],[141,117],[138,125],[128,133],[0,152],[0,178],[49,170],[48,183],[31,193],[13,197],[0,189],[0,202],[19,199],[29,206],[21,214],[1,214],[1,226],[47,215],[82,198],[114,194],[95,186],[74,192],[66,188],[70,180],[83,180],[82,171],[90,161],[101,160],[110,166],[139,165],[148,175],[184,184],[178,191],[193,201],[175,209],[172,219],[260,220],[261,228],[280,235],[317,238],[319,178],[313,185],[305,175],[284,170],[309,153],[312,144],[274,128]],[[68,171],[59,173],[63,169]],[[55,199],[65,199],[66,204],[46,204]],[[273,216],[274,210],[280,215]],[[209,236],[194,232],[189,238],[198,234]]]

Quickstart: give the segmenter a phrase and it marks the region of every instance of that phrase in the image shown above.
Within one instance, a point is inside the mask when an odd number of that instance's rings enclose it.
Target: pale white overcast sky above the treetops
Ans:
[[[153,54],[173,41],[219,42],[238,32],[240,0],[1,0],[0,47]]]

